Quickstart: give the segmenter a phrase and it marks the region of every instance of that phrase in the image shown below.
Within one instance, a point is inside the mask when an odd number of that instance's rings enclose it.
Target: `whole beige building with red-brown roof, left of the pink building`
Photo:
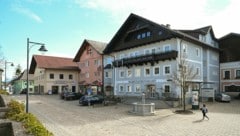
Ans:
[[[33,74],[34,93],[58,94],[64,90],[79,90],[79,68],[72,58],[34,55],[29,73]]]

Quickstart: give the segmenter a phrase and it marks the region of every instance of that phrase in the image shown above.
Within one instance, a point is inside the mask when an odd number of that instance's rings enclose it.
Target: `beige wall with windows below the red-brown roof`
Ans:
[[[61,69],[43,69],[37,68],[34,72],[34,93],[53,94],[62,91],[77,92],[78,89],[78,73],[77,70],[61,70]]]

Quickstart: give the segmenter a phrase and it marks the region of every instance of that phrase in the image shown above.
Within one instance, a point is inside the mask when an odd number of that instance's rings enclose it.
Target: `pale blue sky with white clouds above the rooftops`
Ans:
[[[27,67],[27,38],[44,43],[44,55],[74,58],[84,39],[109,42],[131,13],[172,29],[211,25],[220,38],[240,33],[239,7],[239,0],[0,0],[0,57],[14,63],[10,80],[17,65]],[[30,62],[39,47],[30,48]]]

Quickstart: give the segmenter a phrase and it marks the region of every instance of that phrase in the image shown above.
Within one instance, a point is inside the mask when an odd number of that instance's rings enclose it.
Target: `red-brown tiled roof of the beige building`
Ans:
[[[45,69],[79,70],[77,64],[72,60],[72,58],[33,55],[29,73],[34,74],[36,67]]]

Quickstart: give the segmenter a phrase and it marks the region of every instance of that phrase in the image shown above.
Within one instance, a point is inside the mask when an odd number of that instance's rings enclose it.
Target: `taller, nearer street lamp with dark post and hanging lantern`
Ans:
[[[29,44],[32,44],[32,46],[29,46]],[[27,38],[27,93],[26,93],[26,113],[28,113],[28,96],[29,96],[29,51],[34,45],[40,45],[41,47],[38,49],[39,51],[46,52],[47,49],[45,48],[44,43],[38,43],[38,42],[31,42],[29,38]]]

